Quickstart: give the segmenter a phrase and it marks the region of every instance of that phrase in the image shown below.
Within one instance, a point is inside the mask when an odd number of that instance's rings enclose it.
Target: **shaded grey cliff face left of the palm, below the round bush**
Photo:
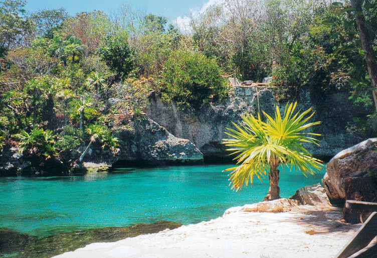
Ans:
[[[201,110],[181,110],[174,103],[165,104],[155,93],[149,96],[148,117],[165,127],[175,137],[190,140],[201,150],[205,159],[228,157],[222,139],[227,138],[227,128],[234,128],[233,122],[240,123],[241,115],[258,110],[272,114],[276,100],[271,91],[265,89],[250,96],[231,96],[226,102],[210,104]],[[259,104],[258,104],[259,103]]]

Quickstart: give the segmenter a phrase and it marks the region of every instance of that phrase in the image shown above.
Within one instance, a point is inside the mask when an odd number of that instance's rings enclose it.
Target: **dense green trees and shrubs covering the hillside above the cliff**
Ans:
[[[318,96],[342,89],[372,105],[347,4],[230,0],[193,16],[186,30],[127,5],[111,16],[74,17],[64,9],[27,14],[24,6],[0,2],[0,146],[19,144],[41,159],[85,142],[116,151],[114,133],[143,116],[151,90],[198,109],[227,97],[221,75],[233,73],[272,76],[280,98],[310,86]],[[374,50],[376,6],[362,5]]]

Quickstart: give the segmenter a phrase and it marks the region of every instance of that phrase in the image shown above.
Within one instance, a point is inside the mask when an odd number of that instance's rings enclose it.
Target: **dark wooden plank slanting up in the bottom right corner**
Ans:
[[[373,212],[336,257],[346,258],[366,247],[377,235],[377,212]]]

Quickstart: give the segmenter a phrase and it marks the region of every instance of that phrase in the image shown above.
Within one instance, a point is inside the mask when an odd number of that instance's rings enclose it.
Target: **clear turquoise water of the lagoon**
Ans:
[[[232,206],[263,200],[268,181],[231,190],[232,165],[164,167],[91,173],[85,176],[0,178],[0,227],[44,237],[107,226],[170,220],[196,223]],[[316,177],[281,172],[280,192],[289,197]]]

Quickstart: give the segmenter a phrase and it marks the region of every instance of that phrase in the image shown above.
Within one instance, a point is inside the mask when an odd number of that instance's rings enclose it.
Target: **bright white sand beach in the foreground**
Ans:
[[[56,257],[333,257],[360,226],[340,217],[339,209],[328,206],[280,213],[237,207],[207,222],[92,243]]]

